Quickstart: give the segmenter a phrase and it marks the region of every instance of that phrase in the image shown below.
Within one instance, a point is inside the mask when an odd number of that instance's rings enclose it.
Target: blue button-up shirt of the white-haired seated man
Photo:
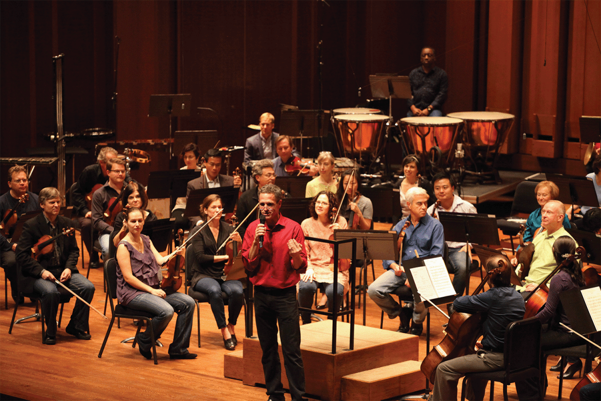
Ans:
[[[393,230],[397,231],[397,234],[401,232],[401,228],[403,228],[407,219],[411,219],[411,215],[394,226]],[[419,257],[442,255],[444,244],[445,235],[441,222],[430,215],[426,215],[419,219],[415,227],[410,224],[405,229],[402,259],[415,259],[415,251],[417,251]],[[384,269],[389,269],[392,263],[394,263],[394,260],[382,260]]]

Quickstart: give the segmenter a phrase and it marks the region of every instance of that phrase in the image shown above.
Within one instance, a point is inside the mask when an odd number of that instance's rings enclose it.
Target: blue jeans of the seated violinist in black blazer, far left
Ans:
[[[56,280],[59,280],[59,278],[57,277]],[[94,284],[83,275],[73,273],[71,278],[63,284],[77,295],[81,296],[81,298],[84,298],[88,304],[92,302],[95,290]],[[56,336],[56,312],[58,311],[58,304],[61,298],[57,287],[58,284],[53,281],[43,280],[41,278],[38,278],[34,282],[34,291],[40,294],[41,307],[43,308],[44,316],[46,317],[46,335],[49,335],[50,337]],[[77,301],[75,301],[75,307],[73,307],[69,326],[79,331],[88,331],[89,318],[90,307],[77,299]]]

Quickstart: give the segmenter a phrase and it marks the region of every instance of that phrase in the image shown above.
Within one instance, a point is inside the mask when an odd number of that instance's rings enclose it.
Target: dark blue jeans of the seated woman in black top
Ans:
[[[204,292],[209,295],[209,304],[217,322],[217,328],[225,328],[225,305],[221,298],[221,292],[225,292],[228,296],[228,322],[230,325],[236,326],[238,315],[244,305],[244,289],[242,283],[238,280],[215,280],[215,278],[204,277],[198,280],[194,286],[198,292]]]

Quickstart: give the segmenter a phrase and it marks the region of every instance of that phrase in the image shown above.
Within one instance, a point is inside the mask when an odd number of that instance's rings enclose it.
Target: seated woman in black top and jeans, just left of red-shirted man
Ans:
[[[230,224],[219,219],[222,209],[219,195],[209,195],[204,198],[201,217],[208,221],[217,216],[192,239],[192,247],[198,263],[195,264],[195,271],[192,272],[191,286],[198,292],[209,295],[209,304],[217,328],[221,330],[224,338],[225,349],[234,350],[238,343],[234,327],[244,304],[243,288],[239,280],[223,279],[224,267],[228,262],[227,246],[223,246],[219,252],[217,249],[229,240],[230,234],[231,240],[236,241],[239,249],[242,249],[242,237],[237,231],[233,233],[234,228]],[[225,322],[225,306],[221,292],[228,295],[228,323]]]

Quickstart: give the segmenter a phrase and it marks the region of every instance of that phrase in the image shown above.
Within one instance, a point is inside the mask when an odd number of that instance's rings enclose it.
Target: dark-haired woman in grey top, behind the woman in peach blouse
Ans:
[[[352,221],[349,221],[350,212],[352,211],[359,217],[359,226],[357,229],[369,230],[371,227],[371,218],[373,217],[374,212],[373,205],[371,204],[370,198],[359,194],[359,183],[357,180],[358,173],[355,173],[352,182],[349,184],[352,173],[352,168],[345,170],[340,176],[340,181],[338,182],[338,191],[336,192],[336,197],[338,199],[343,198],[344,190],[346,189],[346,196],[344,196],[340,206],[340,215],[346,219],[350,226],[353,223]],[[355,198],[353,198],[353,195]]]

